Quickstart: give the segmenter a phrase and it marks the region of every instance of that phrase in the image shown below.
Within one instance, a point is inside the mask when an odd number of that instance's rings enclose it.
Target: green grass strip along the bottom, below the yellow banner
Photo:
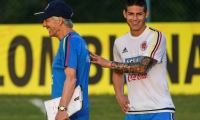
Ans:
[[[50,96],[0,95],[0,120],[45,120],[44,112],[30,102],[36,98],[44,101]],[[200,95],[176,95],[172,98],[176,120],[200,120]],[[90,120],[123,120],[124,114],[114,95],[90,95],[89,99]]]

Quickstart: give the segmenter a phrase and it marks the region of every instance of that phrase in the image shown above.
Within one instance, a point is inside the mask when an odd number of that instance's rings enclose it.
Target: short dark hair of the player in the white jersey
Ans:
[[[132,6],[132,5],[144,7],[144,12],[146,13],[147,11],[147,4],[145,0],[126,0],[125,11],[127,11],[127,7]]]

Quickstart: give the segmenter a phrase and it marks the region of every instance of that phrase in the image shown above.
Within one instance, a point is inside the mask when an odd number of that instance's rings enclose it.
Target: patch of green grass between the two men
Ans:
[[[123,120],[124,113],[113,95],[89,96],[90,120]]]

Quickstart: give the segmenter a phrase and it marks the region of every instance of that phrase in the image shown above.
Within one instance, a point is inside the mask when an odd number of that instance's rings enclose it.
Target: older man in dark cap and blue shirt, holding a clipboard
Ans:
[[[44,20],[50,37],[60,41],[52,64],[52,98],[61,97],[55,120],[89,120],[88,80],[90,56],[85,40],[72,29],[72,9],[61,0],[50,2],[35,15]],[[68,117],[66,112],[76,86],[83,91],[83,109]]]

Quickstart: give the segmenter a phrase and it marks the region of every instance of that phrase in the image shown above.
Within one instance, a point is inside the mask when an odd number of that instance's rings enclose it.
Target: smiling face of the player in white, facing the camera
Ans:
[[[148,17],[148,11],[145,13],[144,7],[133,5],[127,7],[127,11],[124,10],[123,14],[131,32],[134,35],[139,36],[146,28],[145,20]]]

